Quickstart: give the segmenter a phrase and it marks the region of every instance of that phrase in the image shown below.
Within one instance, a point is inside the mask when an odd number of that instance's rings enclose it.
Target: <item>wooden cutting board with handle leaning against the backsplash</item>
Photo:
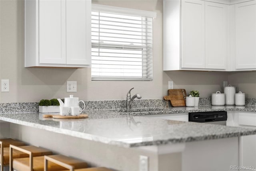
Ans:
[[[186,106],[186,90],[185,89],[169,89],[169,95],[164,96],[164,100],[170,100],[174,107]]]

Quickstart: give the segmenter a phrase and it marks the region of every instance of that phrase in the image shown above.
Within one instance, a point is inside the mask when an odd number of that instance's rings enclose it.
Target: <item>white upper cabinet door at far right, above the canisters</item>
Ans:
[[[256,1],[235,5],[236,69],[256,68]]]

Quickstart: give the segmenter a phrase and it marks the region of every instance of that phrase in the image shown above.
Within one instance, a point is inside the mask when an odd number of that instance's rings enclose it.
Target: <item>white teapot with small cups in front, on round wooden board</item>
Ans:
[[[64,103],[60,98],[57,100],[60,103],[60,115],[73,115],[78,116],[80,113],[82,113],[82,110],[85,109],[85,103],[82,100],[78,100],[78,97],[73,97],[73,95],[70,95],[70,97],[64,98]],[[82,102],[84,104],[84,108],[79,107],[79,102]]]

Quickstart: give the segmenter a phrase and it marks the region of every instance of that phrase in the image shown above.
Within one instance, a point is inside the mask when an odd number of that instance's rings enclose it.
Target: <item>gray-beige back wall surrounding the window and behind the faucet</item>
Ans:
[[[1,102],[38,102],[43,98],[64,98],[66,81],[77,81],[83,100],[126,99],[127,91],[140,93],[142,98],[162,98],[167,95],[168,81],[174,88],[196,89],[201,97],[223,90],[224,72],[168,71],[162,67],[163,2],[162,0],[92,0],[93,3],[157,12],[154,19],[154,80],[153,81],[91,81],[90,68],[24,68],[24,0],[0,0],[0,75],[10,79],[10,92],[0,94]],[[254,81],[255,83],[255,81]],[[254,91],[255,94],[255,91]]]

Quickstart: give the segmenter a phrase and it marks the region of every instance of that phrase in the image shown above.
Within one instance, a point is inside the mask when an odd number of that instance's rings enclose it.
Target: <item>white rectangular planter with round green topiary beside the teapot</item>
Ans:
[[[59,113],[60,103],[56,98],[51,100],[42,99],[39,102],[39,112],[40,113]]]

